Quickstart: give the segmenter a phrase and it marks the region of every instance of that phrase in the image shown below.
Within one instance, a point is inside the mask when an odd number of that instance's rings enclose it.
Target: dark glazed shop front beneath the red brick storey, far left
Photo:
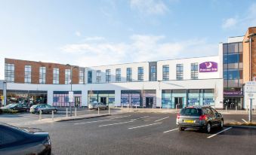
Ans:
[[[47,91],[7,90],[7,105],[11,103],[25,105],[47,104]]]

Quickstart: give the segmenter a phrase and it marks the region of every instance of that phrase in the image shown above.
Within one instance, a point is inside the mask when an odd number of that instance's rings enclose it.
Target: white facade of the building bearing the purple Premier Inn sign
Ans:
[[[223,108],[222,64],[222,56],[206,56],[86,67],[85,84],[72,84],[78,103],[72,105],[96,101],[143,108]],[[54,106],[69,106],[70,89],[70,84],[7,84],[7,90],[45,93],[48,105]]]

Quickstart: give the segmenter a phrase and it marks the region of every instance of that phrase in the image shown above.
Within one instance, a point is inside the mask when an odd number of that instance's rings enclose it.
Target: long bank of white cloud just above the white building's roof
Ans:
[[[207,39],[187,41],[165,41],[163,35],[131,35],[129,43],[94,41],[67,44],[61,47],[64,53],[78,59],[78,65],[111,65],[125,62],[147,62],[160,59],[174,59],[190,56],[217,55],[217,44],[209,44]],[[65,55],[65,54],[64,54]]]

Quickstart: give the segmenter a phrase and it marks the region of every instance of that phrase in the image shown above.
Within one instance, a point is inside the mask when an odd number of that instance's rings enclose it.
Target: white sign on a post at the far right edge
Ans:
[[[252,99],[254,94],[256,93],[256,82],[249,81],[245,83],[245,92],[248,93],[248,98],[250,99],[250,108],[249,108],[249,122],[251,123],[251,114],[252,114]]]

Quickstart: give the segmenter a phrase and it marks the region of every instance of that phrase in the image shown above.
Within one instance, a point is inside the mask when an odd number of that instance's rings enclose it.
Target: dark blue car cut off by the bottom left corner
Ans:
[[[0,123],[0,154],[51,154],[51,139],[41,129],[18,128]]]

